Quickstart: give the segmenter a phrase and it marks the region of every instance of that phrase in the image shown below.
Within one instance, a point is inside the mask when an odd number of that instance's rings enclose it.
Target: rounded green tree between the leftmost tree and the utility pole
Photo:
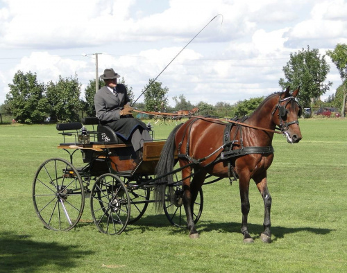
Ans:
[[[79,99],[81,94],[81,83],[75,78],[62,78],[59,81],[49,82],[46,96],[51,106],[51,118],[58,122],[78,121],[78,112],[82,109]]]

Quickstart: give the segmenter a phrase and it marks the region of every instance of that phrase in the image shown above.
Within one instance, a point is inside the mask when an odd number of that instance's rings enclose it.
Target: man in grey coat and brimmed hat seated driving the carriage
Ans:
[[[137,151],[144,141],[152,139],[146,124],[131,115],[133,108],[130,107],[125,85],[117,84],[119,77],[112,68],[105,69],[100,76],[105,86],[94,96],[96,116],[102,125],[111,127],[121,139],[127,141],[130,138]]]

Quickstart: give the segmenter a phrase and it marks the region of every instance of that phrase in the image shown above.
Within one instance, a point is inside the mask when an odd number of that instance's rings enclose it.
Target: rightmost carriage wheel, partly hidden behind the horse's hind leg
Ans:
[[[187,227],[187,218],[183,206],[182,182],[167,186],[165,191],[164,213],[167,219],[176,227]],[[193,207],[193,220],[195,224],[198,222],[202,212],[203,189],[200,188]]]

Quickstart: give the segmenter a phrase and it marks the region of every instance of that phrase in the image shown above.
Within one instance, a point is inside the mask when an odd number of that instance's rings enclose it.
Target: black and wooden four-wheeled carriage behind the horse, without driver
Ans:
[[[90,200],[99,231],[121,234],[155,202],[151,200],[155,166],[165,141],[145,142],[142,152],[135,152],[131,143],[124,143],[110,127],[98,123],[97,118],[87,117],[82,123],[56,125],[63,137],[58,148],[69,154],[69,160],[44,161],[33,182],[35,211],[47,229],[73,229],[81,220],[86,200]],[[87,125],[92,130],[88,131]],[[76,152],[81,152],[81,167],[74,166]],[[182,181],[177,173],[175,177],[163,209],[171,224],[185,227]],[[198,221],[203,210],[202,190],[194,206]]]

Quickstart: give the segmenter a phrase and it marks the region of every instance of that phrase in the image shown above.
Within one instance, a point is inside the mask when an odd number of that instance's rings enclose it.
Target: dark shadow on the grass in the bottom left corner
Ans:
[[[77,245],[37,242],[31,239],[30,235],[9,232],[0,234],[0,260],[3,272],[36,272],[38,268],[46,265],[67,272],[79,266],[78,258],[90,254],[94,252],[81,250]]]

